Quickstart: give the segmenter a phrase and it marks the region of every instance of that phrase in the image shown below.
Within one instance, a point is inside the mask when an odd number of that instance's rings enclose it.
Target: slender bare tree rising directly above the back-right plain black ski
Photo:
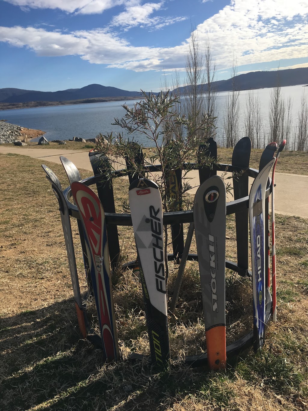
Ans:
[[[239,90],[237,89],[237,62],[232,61],[231,67],[232,90],[228,91],[225,99],[223,128],[225,131],[226,147],[234,147],[239,137]]]

